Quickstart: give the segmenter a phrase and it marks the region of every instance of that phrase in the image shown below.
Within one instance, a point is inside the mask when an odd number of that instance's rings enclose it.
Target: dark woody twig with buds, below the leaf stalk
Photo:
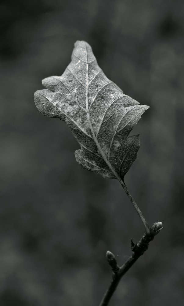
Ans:
[[[132,255],[121,267],[118,266],[114,254],[107,251],[106,257],[113,270],[113,275],[109,288],[107,289],[99,306],[107,306],[109,304],[109,301],[113,296],[113,293],[116,290],[117,285],[119,284],[122,276],[130,269],[130,267],[132,267],[135,261],[141,255],[143,255],[143,253],[148,249],[149,242],[154,239],[154,236],[156,236],[161,229],[162,229],[162,222],[154,223],[150,229],[150,234],[145,233],[143,237],[139,240],[139,242],[136,244],[134,244],[133,241],[131,241]]]

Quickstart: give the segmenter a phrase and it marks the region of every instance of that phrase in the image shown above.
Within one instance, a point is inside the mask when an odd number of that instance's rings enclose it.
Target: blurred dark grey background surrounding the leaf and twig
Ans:
[[[6,0],[0,5],[0,305],[98,306],[144,227],[117,180],[75,160],[77,141],[34,105],[76,40],[125,94],[150,106],[125,182],[150,224],[164,228],[124,276],[110,305],[184,303],[184,2]]]

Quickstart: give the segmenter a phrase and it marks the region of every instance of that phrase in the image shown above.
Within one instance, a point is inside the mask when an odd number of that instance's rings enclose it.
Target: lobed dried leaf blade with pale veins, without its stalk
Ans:
[[[128,134],[149,106],[124,95],[99,68],[92,48],[77,41],[62,76],[42,80],[35,104],[45,116],[65,121],[79,142],[77,161],[103,177],[123,179],[139,150]]]

